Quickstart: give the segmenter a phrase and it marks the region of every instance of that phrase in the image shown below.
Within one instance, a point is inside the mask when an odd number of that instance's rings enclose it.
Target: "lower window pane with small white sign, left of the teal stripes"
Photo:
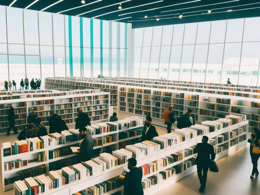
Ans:
[[[54,76],[64,76],[66,74],[66,65],[65,65],[65,47],[54,47]]]

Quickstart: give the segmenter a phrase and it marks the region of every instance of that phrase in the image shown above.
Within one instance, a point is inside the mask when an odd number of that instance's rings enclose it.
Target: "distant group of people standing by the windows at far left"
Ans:
[[[35,89],[41,89],[41,79],[35,79],[34,81],[34,78],[30,81],[29,83],[29,79],[25,76],[25,79],[21,80],[20,81],[20,90],[23,90],[25,88],[25,90],[29,90],[29,84],[30,84],[30,87],[31,87],[31,90],[35,90]],[[8,91],[8,88],[9,88],[9,91],[12,90],[12,87],[13,87],[13,90],[17,90],[16,89],[16,82],[14,80],[12,80],[12,82],[9,80],[9,81],[4,81],[4,89],[5,91]]]

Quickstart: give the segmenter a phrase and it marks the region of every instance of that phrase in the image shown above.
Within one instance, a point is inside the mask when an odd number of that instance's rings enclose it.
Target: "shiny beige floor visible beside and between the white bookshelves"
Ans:
[[[114,112],[117,112],[114,110]],[[123,119],[129,117],[131,114],[125,112],[117,112],[118,118]],[[159,135],[166,134],[166,128],[155,126]],[[173,127],[174,128],[174,127]],[[0,135],[0,144],[2,142],[13,141],[16,135],[10,136]],[[171,195],[171,194],[184,194],[184,195],[247,195],[259,194],[260,191],[260,176],[259,178],[250,179],[252,171],[252,164],[249,154],[249,145],[244,146],[237,151],[219,159],[217,161],[219,168],[218,173],[208,173],[207,187],[203,193],[199,193],[199,180],[197,173],[166,187],[165,189],[156,193],[156,195]],[[0,194],[12,195],[13,190],[2,192],[2,177],[0,183]]]

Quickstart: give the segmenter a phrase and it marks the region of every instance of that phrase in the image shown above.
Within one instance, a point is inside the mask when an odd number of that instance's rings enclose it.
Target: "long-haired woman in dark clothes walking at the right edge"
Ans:
[[[250,156],[251,156],[251,161],[253,164],[253,170],[252,174],[250,175],[250,178],[254,178],[254,175],[258,176],[259,172],[257,170],[257,161],[260,157],[260,154],[254,154],[253,147],[258,147],[260,143],[260,131],[257,127],[254,127],[254,130],[251,134],[251,139],[247,140],[250,143]]]

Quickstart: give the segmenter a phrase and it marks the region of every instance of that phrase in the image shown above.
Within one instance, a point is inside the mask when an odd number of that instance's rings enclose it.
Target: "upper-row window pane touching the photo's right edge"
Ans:
[[[260,41],[260,17],[245,19],[243,41]]]

